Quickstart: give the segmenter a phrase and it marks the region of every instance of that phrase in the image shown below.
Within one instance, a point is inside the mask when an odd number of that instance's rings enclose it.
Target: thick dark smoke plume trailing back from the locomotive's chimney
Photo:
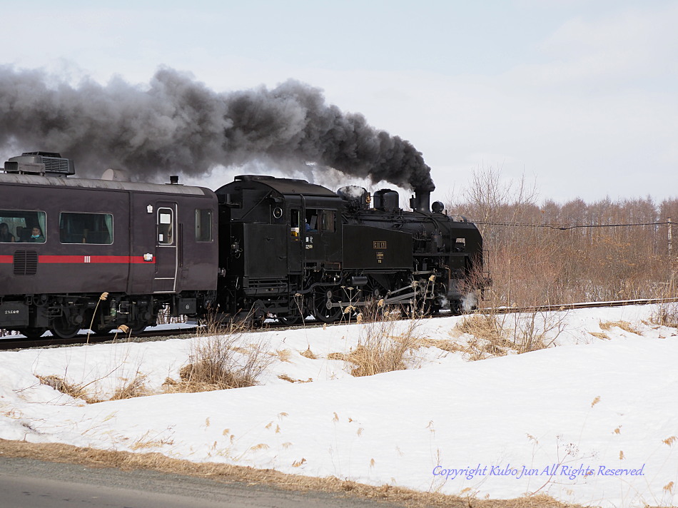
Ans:
[[[435,188],[408,141],[325,103],[318,88],[290,80],[271,90],[217,93],[169,68],[145,88],[120,78],[75,88],[42,71],[0,67],[0,150],[10,148],[60,152],[79,174],[113,167],[138,179],[200,176],[268,158],[415,191]]]

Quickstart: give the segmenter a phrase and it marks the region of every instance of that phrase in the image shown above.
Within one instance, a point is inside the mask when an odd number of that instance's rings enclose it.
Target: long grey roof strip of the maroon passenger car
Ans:
[[[0,173],[0,183],[19,183],[24,185],[61,188],[106,189],[109,191],[136,191],[149,193],[210,195],[208,188],[171,185],[168,183],[141,183],[113,180],[95,180],[88,178],[64,178],[61,176],[41,176],[31,174]]]

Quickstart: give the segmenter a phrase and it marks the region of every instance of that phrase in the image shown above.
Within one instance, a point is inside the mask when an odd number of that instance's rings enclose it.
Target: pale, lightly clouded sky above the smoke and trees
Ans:
[[[0,66],[74,85],[143,88],[169,67],[218,92],[320,88],[413,143],[434,200],[489,169],[525,176],[540,200],[678,195],[677,1],[5,0],[2,12]]]

